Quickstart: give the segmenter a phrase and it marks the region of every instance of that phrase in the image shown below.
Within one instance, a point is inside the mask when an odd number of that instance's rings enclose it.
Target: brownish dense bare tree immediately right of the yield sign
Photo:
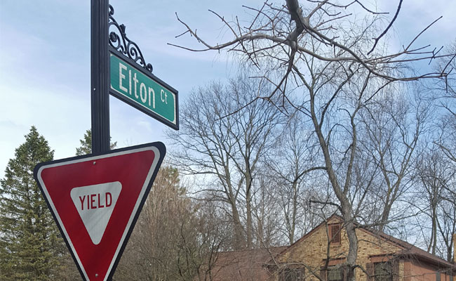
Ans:
[[[193,202],[177,169],[162,167],[114,280],[208,280],[224,243],[216,213]]]

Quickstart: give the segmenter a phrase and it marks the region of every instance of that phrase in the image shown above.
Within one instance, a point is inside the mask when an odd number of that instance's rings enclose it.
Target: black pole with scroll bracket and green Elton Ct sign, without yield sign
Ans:
[[[92,153],[109,151],[109,93],[178,130],[177,90],[152,74],[125,26],[114,20],[109,0],[91,0],[90,5]]]

